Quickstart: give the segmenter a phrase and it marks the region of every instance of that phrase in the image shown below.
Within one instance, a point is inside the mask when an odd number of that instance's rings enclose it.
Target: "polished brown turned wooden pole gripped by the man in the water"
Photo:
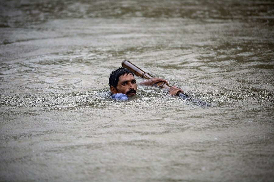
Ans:
[[[138,68],[136,65],[132,64],[128,60],[124,60],[122,62],[122,67],[123,68],[127,68],[128,70],[130,70],[131,72],[133,72],[135,75],[137,75],[139,77],[142,77],[144,79],[151,79],[151,78],[153,78],[152,75],[150,75],[149,73],[144,72],[142,69]],[[168,85],[167,83],[164,83],[164,82],[158,82],[158,83],[154,84],[153,86],[157,86],[157,87],[160,87],[160,88],[163,88],[163,89],[170,89],[171,88],[170,85]],[[189,96],[187,94],[178,92],[177,95],[180,96],[180,97],[183,97],[184,99],[190,99],[190,100],[193,100],[193,101],[195,101],[197,103],[200,103],[202,105],[210,106],[208,103],[205,103],[205,102],[203,102],[201,100],[194,99],[194,98],[192,98],[191,96]]]

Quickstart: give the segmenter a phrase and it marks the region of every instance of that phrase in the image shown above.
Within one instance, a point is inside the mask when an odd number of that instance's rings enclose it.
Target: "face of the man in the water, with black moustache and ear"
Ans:
[[[132,74],[124,74],[119,77],[117,89],[111,86],[112,93],[124,93],[127,96],[136,95],[137,84]]]

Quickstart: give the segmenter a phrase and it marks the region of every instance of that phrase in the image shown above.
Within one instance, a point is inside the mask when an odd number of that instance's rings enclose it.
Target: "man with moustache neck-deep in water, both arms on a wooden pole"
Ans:
[[[152,78],[139,83],[140,85],[153,86],[158,82],[164,82],[168,84],[168,81],[161,78]],[[109,75],[108,85],[110,86],[112,98],[127,100],[128,97],[136,95],[137,84],[133,73],[126,68],[118,68]],[[168,93],[170,95],[176,95],[183,90],[177,86],[172,86]]]

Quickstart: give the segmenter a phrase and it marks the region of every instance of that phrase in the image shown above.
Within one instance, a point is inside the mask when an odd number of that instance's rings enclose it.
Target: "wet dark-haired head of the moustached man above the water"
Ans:
[[[137,84],[134,75],[126,68],[118,68],[109,75],[108,85],[111,93],[136,94]]]

